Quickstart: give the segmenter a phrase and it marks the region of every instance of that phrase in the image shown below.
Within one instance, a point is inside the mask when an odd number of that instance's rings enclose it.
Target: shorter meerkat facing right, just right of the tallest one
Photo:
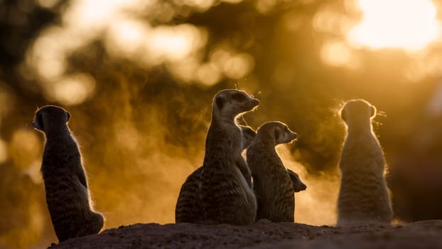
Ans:
[[[257,129],[257,137],[247,148],[247,164],[257,195],[257,221],[294,222],[294,186],[297,183],[292,181],[275,147],[297,137],[282,122],[266,122]],[[303,190],[303,186],[296,187]]]

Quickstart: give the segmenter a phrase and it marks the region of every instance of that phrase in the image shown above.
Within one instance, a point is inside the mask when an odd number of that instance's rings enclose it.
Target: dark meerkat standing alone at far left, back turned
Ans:
[[[45,134],[41,173],[55,234],[68,238],[99,233],[104,218],[92,210],[77,142],[68,127],[69,112],[47,105],[36,111],[33,126]]]

